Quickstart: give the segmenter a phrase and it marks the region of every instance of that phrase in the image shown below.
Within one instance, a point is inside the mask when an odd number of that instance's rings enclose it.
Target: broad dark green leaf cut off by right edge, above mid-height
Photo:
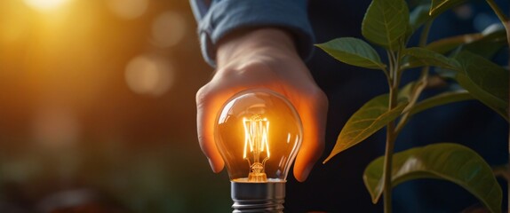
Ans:
[[[469,51],[456,58],[465,71],[455,76],[458,84],[508,121],[508,70]]]

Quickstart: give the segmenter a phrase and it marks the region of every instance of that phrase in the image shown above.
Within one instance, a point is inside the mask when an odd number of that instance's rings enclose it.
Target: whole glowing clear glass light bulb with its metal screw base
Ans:
[[[287,174],[303,138],[294,106],[275,91],[242,91],[227,100],[216,121],[234,212],[282,212]]]

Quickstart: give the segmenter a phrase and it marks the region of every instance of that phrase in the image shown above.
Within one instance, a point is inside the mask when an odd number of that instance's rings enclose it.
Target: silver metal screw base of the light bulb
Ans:
[[[231,182],[233,213],[283,212],[285,182]]]

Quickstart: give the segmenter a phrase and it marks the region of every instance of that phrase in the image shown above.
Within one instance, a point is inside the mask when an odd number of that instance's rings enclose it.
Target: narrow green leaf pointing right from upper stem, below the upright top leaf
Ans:
[[[420,66],[433,66],[451,70],[461,70],[456,59],[446,58],[442,54],[425,48],[411,47],[403,50],[402,54],[410,57],[407,61],[409,64],[404,65],[404,67],[415,67],[416,64],[418,64]]]

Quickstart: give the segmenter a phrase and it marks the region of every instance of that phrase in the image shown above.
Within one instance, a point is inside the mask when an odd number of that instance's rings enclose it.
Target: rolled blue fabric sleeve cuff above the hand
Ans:
[[[295,36],[302,59],[308,59],[315,42],[307,16],[307,0],[190,0],[198,21],[203,58],[215,67],[215,44],[235,29],[285,28]]]

